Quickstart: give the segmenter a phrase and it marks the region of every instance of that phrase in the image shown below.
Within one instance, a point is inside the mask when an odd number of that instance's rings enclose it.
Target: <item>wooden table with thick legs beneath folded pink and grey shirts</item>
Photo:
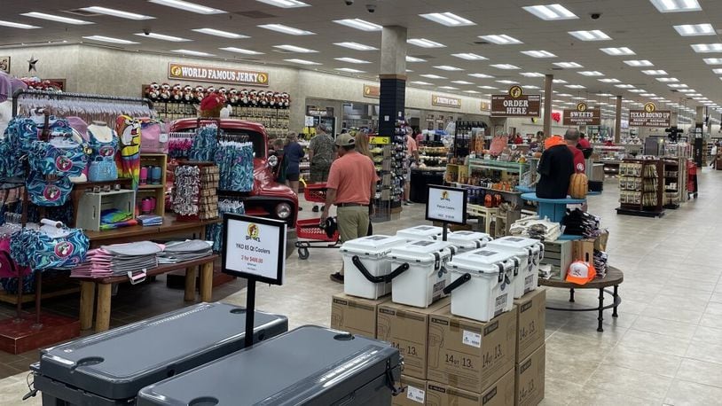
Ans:
[[[153,229],[153,227],[149,227]],[[185,301],[195,300],[195,276],[196,268],[200,266],[200,299],[211,301],[213,289],[213,262],[218,255],[208,255],[195,261],[178,262],[168,265],[161,265],[157,268],[148,269],[145,276],[153,277],[176,269],[185,269]],[[83,277],[81,281],[80,294],[80,324],[82,330],[92,327],[93,303],[95,302],[95,286],[98,285],[98,310],[95,315],[95,331],[105,332],[110,327],[110,298],[113,284],[129,282],[127,276],[119,277]]]

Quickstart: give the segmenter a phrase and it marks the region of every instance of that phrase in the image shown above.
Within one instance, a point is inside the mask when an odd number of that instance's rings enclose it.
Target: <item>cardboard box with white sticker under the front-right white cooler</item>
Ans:
[[[481,394],[514,366],[516,308],[487,323],[450,309],[428,322],[428,380]]]

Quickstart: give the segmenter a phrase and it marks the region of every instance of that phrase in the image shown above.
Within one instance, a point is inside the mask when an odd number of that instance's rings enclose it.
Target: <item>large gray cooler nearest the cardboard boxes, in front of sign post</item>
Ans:
[[[310,325],[144,387],[137,404],[383,406],[400,370],[390,344]]]

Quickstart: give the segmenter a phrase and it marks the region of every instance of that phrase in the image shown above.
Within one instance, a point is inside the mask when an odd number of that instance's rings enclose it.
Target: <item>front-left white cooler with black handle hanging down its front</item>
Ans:
[[[356,238],[343,243],[341,246],[344,275],[343,292],[373,300],[390,293],[390,281],[382,280],[392,270],[391,261],[386,254],[394,246],[404,244],[406,244],[404,238],[382,235]],[[366,271],[366,275],[354,263],[354,257],[358,258]]]

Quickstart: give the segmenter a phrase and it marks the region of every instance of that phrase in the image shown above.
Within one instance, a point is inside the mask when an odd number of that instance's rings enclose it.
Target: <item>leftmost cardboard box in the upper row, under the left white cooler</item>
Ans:
[[[345,293],[334,294],[331,299],[331,328],[375,339],[376,310],[390,299],[391,296],[386,296],[372,301]]]

